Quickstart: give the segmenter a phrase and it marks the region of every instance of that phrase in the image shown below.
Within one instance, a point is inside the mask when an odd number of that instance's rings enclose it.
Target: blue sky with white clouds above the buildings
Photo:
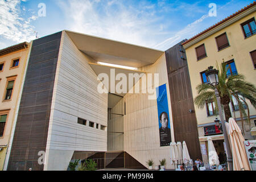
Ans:
[[[0,0],[0,49],[62,30],[165,51],[253,1]],[[42,6],[46,7],[45,16]],[[209,16],[209,4],[217,16]]]

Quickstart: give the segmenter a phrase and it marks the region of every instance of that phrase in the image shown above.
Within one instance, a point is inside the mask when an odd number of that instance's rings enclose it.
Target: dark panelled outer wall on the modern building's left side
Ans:
[[[7,170],[43,170],[61,32],[32,43]]]

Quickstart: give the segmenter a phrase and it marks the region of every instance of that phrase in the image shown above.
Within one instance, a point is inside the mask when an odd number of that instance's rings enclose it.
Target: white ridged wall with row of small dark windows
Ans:
[[[97,92],[97,75],[63,31],[46,147],[44,170],[67,170],[73,151],[106,151],[108,95]],[[99,129],[77,123],[77,117],[98,123]],[[87,122],[88,125],[89,122]]]

